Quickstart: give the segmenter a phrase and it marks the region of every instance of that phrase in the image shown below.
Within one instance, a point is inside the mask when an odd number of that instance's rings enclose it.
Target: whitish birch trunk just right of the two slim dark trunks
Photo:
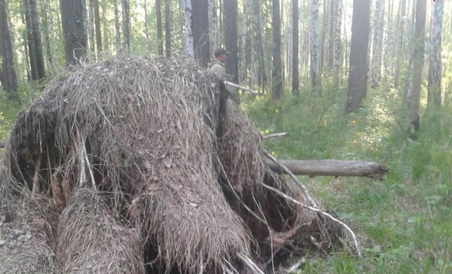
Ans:
[[[319,50],[318,47],[318,6],[319,0],[311,0],[310,6],[310,14],[311,14],[311,22],[310,22],[310,60],[311,60],[311,84],[313,87],[318,86],[319,81],[319,73],[320,73],[320,58],[319,58]]]

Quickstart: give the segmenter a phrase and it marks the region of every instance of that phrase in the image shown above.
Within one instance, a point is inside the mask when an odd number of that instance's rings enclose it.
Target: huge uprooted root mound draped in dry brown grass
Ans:
[[[174,59],[107,60],[50,84],[18,114],[0,185],[2,233],[26,223],[39,245],[30,255],[7,237],[0,273],[18,260],[40,273],[261,273],[342,241],[272,191],[308,202],[224,95]]]

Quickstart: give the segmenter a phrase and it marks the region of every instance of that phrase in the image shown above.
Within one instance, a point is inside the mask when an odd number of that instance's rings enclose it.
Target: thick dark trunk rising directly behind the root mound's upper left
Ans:
[[[86,55],[84,0],[60,0],[64,54],[67,65],[79,64]]]

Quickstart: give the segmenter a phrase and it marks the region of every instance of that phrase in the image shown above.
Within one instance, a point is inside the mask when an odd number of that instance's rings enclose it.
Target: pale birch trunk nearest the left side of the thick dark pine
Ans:
[[[334,0],[334,29],[333,29],[333,75],[336,82],[340,76],[342,66],[342,0]]]

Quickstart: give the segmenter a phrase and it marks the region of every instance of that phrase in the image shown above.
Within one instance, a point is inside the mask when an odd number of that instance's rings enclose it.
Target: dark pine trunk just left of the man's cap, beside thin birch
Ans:
[[[201,64],[207,66],[210,61],[209,1],[192,1],[192,8],[194,58],[201,60]]]

